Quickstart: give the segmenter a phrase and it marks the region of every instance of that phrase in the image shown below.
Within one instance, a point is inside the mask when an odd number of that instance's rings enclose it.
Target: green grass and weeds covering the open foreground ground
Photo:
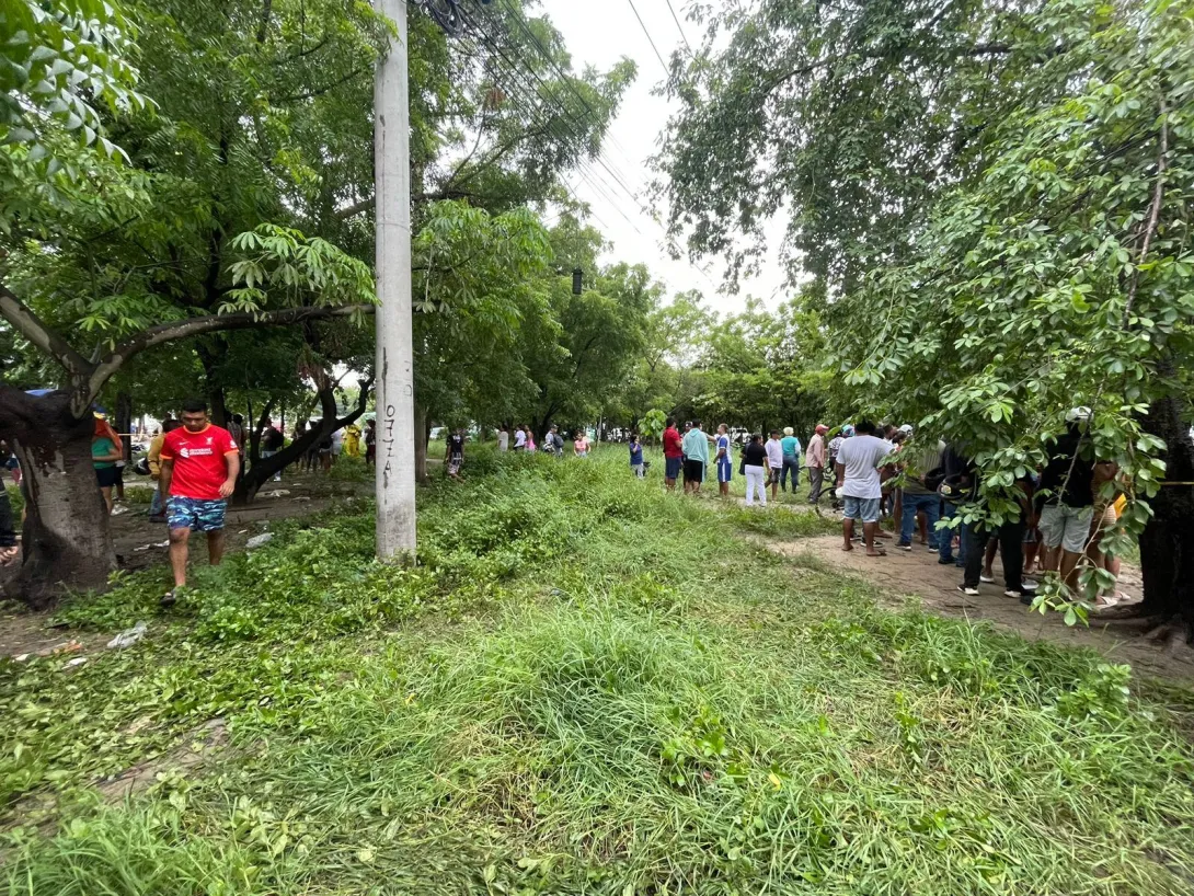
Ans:
[[[622,460],[470,458],[421,495],[414,572],[341,507],[204,571],[176,621],[158,571],[66,608],[154,637],[0,663],[0,892],[1189,890],[1188,691],[884,612],[744,538],[816,516]],[[88,787],[214,717],[197,772]]]

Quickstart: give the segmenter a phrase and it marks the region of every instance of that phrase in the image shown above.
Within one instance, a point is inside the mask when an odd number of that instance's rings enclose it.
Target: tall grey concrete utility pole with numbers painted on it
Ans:
[[[377,226],[377,557],[414,558],[414,348],[406,0],[374,0],[398,33],[374,82]]]

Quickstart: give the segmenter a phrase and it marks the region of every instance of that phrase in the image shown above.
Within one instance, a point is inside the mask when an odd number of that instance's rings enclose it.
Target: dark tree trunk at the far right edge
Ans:
[[[1165,440],[1165,481],[1194,481],[1194,443],[1187,411],[1184,401],[1164,398],[1152,404],[1144,419],[1145,431]],[[1152,518],[1140,534],[1140,614],[1180,616],[1189,638],[1194,636],[1194,546],[1188,538],[1194,520],[1194,487],[1162,486],[1149,504]]]

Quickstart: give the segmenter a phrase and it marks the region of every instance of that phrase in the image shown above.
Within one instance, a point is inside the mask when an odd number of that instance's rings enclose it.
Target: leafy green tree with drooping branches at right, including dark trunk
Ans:
[[[1137,612],[1175,644],[1194,632],[1194,552],[1177,534],[1194,491],[1161,484],[1194,480],[1178,373],[1194,360],[1190,11],[1048,4],[1038,24],[1065,33],[1066,96],[1018,99],[986,171],[940,203],[905,264],[874,272],[838,335],[851,383],[972,447],[995,515],[1065,411],[1094,409],[1093,450],[1134,499]]]

